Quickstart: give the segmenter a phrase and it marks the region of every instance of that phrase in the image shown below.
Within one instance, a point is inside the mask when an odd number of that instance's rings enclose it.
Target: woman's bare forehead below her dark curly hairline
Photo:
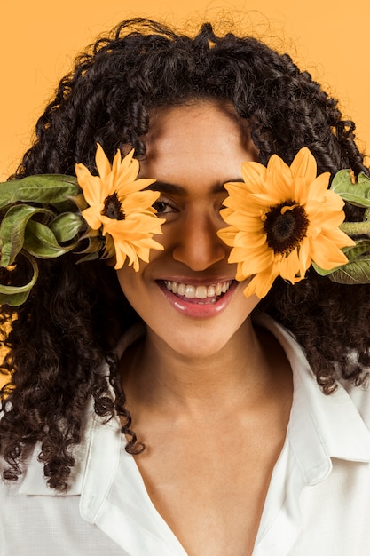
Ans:
[[[241,163],[257,159],[248,122],[226,102],[202,100],[156,109],[144,140],[146,157],[140,167],[152,175],[173,171],[174,165],[206,174],[236,166],[233,173],[238,174]]]

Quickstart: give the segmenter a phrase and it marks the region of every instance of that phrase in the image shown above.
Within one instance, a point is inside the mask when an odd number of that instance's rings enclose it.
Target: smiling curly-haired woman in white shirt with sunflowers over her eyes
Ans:
[[[364,190],[353,129],[208,23],[78,57],[0,187],[4,555],[368,552],[369,286],[327,276],[368,250],[327,189]]]

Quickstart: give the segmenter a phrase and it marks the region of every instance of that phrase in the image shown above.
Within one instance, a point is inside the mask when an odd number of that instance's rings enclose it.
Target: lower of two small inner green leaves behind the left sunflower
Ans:
[[[77,242],[67,247],[59,245],[51,229],[40,222],[29,220],[23,248],[37,258],[56,258],[75,249]]]

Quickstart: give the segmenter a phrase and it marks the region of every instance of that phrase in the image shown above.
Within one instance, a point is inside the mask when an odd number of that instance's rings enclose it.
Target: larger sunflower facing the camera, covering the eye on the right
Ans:
[[[251,278],[246,297],[264,298],[280,275],[295,283],[303,280],[313,261],[324,270],[348,262],[341,248],[355,242],[339,229],[344,202],[327,189],[330,174],[317,176],[317,166],[303,147],[287,166],[272,155],[267,168],[243,163],[244,182],[225,184],[229,196],[221,215],[229,227],[218,235],[237,263],[236,280]]]

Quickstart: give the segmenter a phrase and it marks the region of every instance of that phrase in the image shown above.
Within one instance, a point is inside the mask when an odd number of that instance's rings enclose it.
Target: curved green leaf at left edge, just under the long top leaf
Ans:
[[[51,210],[30,207],[28,204],[17,204],[6,212],[0,226],[2,241],[0,266],[12,265],[23,247],[28,220],[40,213],[53,216]]]

